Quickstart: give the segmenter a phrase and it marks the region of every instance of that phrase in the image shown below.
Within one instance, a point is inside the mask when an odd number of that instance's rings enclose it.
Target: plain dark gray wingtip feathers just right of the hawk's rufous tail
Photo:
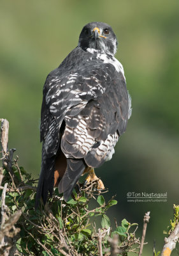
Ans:
[[[59,193],[63,193],[66,202],[86,167],[87,164],[83,159],[67,159],[66,172],[59,183]]]

